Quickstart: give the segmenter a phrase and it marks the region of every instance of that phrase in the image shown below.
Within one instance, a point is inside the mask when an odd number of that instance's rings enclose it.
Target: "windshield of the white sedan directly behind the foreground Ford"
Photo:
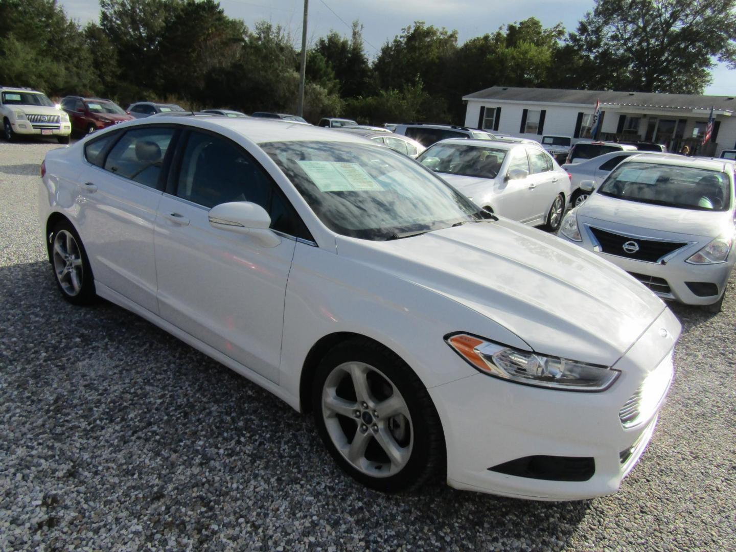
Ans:
[[[495,178],[507,149],[470,144],[434,144],[417,160],[428,169],[463,177]]]

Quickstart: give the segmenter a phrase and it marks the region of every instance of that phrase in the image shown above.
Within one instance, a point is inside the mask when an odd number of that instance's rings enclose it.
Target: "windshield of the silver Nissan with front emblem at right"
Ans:
[[[719,171],[634,161],[618,166],[598,193],[682,209],[728,210],[731,181]]]

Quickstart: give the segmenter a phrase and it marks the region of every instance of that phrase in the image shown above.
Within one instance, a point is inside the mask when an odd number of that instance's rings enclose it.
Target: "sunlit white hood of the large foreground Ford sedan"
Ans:
[[[563,358],[612,366],[666,308],[612,263],[507,219],[337,241],[339,255],[466,305],[533,350]]]

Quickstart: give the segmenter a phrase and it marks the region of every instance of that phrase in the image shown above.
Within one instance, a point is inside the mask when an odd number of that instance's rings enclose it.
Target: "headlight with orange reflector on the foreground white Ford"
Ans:
[[[540,355],[506,347],[467,333],[445,341],[479,372],[495,378],[562,391],[604,391],[618,378],[618,370]]]

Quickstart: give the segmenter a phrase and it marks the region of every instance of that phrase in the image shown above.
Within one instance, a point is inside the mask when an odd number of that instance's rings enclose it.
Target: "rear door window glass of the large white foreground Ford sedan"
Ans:
[[[105,170],[157,188],[163,158],[173,135],[174,130],[170,128],[129,130],[107,155]]]

